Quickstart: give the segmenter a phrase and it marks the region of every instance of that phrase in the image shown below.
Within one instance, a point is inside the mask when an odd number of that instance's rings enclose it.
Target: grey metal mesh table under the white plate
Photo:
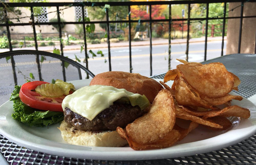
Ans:
[[[203,62],[203,64],[221,62],[227,70],[237,75],[241,84],[239,91],[234,91],[245,98],[256,94],[256,55],[232,54]],[[153,78],[162,79],[164,74]],[[157,160],[136,161],[104,161],[91,159],[76,159],[64,156],[55,156],[34,151],[17,145],[0,135],[0,151],[9,164],[256,164],[256,134],[235,145],[221,150],[198,154],[194,156],[177,157]],[[1,155],[0,155],[1,156]]]

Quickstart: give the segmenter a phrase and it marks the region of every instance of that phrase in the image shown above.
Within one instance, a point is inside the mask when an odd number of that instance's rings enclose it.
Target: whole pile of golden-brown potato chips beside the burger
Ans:
[[[232,123],[228,117],[248,119],[250,111],[238,105],[231,106],[231,100],[241,101],[241,96],[230,95],[238,90],[240,80],[228,72],[221,63],[188,63],[169,70],[162,89],[149,111],[136,119],[125,129],[117,128],[120,137],[126,139],[134,150],[169,147],[180,141],[199,125],[221,131]],[[173,80],[169,87],[165,82]],[[220,105],[224,108],[220,108]],[[178,119],[189,120],[189,126],[182,128]]]

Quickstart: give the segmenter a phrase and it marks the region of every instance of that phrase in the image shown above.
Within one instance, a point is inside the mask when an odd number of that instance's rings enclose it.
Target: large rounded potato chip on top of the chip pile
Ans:
[[[221,63],[200,66],[177,65],[186,82],[200,94],[208,97],[221,97],[229,93],[234,86],[234,78]]]

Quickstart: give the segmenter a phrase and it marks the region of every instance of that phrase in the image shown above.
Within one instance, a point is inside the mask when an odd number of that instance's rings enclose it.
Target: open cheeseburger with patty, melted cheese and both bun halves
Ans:
[[[89,86],[63,100],[61,135],[75,145],[124,146],[127,141],[119,137],[116,128],[125,128],[144,115],[161,89],[159,82],[139,74],[98,74]]]

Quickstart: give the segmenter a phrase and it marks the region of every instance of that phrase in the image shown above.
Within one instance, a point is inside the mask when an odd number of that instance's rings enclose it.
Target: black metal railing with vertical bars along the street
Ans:
[[[241,15],[236,17],[226,17],[226,4],[231,2],[241,2],[240,8],[241,8]],[[130,60],[130,72],[132,72],[132,52],[131,52],[131,23],[149,23],[149,38],[150,38],[150,76],[152,76],[152,23],[160,23],[160,22],[166,22],[169,24],[169,46],[168,46],[168,68],[171,68],[171,25],[174,24],[176,21],[186,21],[187,24],[187,37],[186,37],[186,60],[188,60],[188,52],[189,52],[189,32],[190,32],[190,23],[191,21],[205,21],[206,29],[208,29],[208,21],[209,20],[223,20],[223,31],[222,31],[222,47],[221,47],[221,56],[223,56],[223,49],[224,49],[224,34],[225,34],[225,21],[226,19],[240,19],[240,29],[239,29],[239,42],[238,42],[238,53],[240,53],[241,50],[241,37],[242,37],[242,25],[243,25],[243,18],[256,18],[256,15],[253,16],[243,16],[243,8],[245,2],[256,2],[256,0],[251,1],[245,1],[245,0],[194,0],[194,1],[150,1],[150,2],[69,2],[69,3],[2,3],[1,8],[4,9],[5,13],[5,19],[6,22],[4,24],[1,24],[0,27],[6,27],[7,28],[7,37],[9,41],[9,48],[10,51],[12,51],[12,44],[11,44],[11,33],[10,33],[10,26],[32,26],[33,27],[33,34],[34,34],[34,42],[35,42],[35,49],[38,50],[38,44],[36,40],[36,25],[59,25],[59,41],[60,41],[60,54],[63,56],[63,44],[62,44],[62,32],[61,32],[61,24],[68,25],[68,24],[81,24],[83,25],[83,37],[84,37],[84,46],[85,46],[85,62],[86,67],[88,68],[88,53],[87,53],[87,43],[86,43],[86,28],[85,26],[87,24],[97,24],[97,23],[104,23],[107,24],[107,44],[108,44],[108,62],[109,62],[109,71],[112,70],[111,67],[111,53],[110,53],[110,28],[109,24],[112,23],[128,23],[129,24],[129,60]],[[209,17],[209,4],[210,3],[224,3],[224,10],[223,10],[223,16],[221,17]],[[130,13],[131,6],[137,5],[137,6],[149,6],[149,19],[148,20],[132,20],[130,14],[128,15],[128,20],[115,20],[111,21],[109,20],[109,11],[108,8],[105,8],[106,12],[106,21],[85,21],[85,11],[83,7],[104,7],[106,4],[110,6],[125,6],[128,7],[127,13]],[[188,16],[187,18],[182,19],[172,19],[172,12],[171,12],[171,5],[178,5],[178,4],[186,4],[188,5]],[[191,18],[190,12],[191,12],[191,4],[206,4],[206,17],[204,18]],[[151,17],[151,11],[153,5],[169,5],[169,15],[168,19],[152,19]],[[61,22],[60,21],[60,9],[59,7],[82,7],[82,21],[81,22]],[[29,23],[11,23],[9,22],[8,16],[7,16],[7,8],[8,7],[30,7],[31,10],[31,22]],[[57,13],[57,19],[58,22],[44,22],[44,23],[38,23],[34,21],[34,14],[33,14],[33,7],[56,7],[56,13]],[[207,30],[205,31],[205,46],[204,46],[204,60],[206,60],[207,56]],[[255,48],[256,49],[256,48]]]

